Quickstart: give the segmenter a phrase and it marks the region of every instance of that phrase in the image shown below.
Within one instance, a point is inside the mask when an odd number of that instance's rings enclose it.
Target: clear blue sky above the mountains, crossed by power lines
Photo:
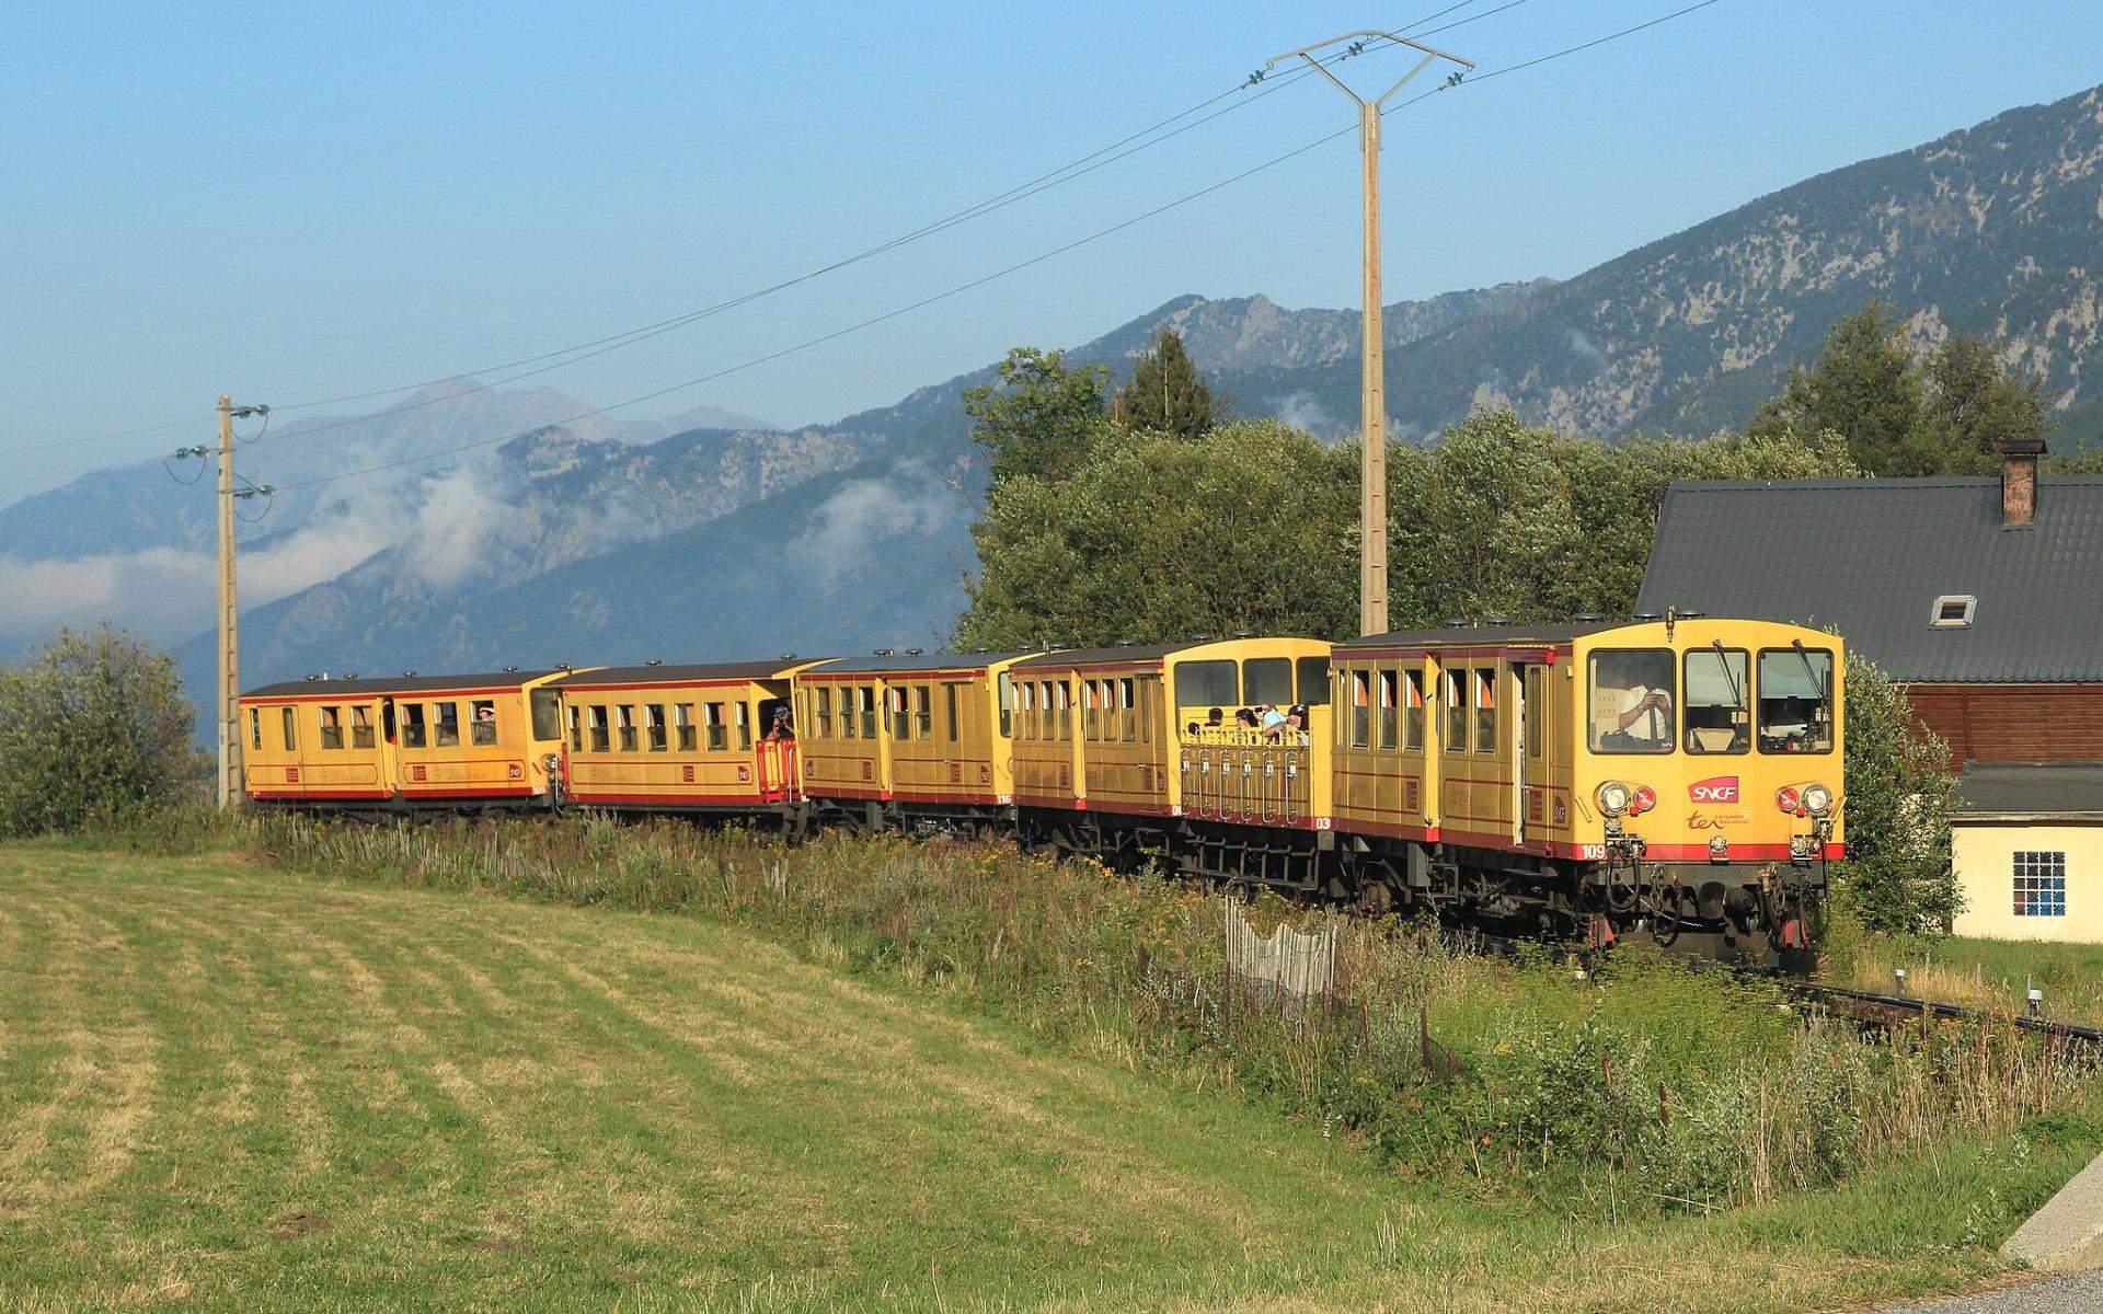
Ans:
[[[969,206],[1411,4],[17,6],[0,48],[15,448],[534,355]],[[1441,23],[1495,8],[1476,0]],[[1493,69],[1687,0],[1527,0]],[[1865,156],[2103,80],[2103,6],[1720,0],[1386,128],[1386,290],[1571,275]],[[1342,69],[1401,74],[1394,53]],[[1319,80],[839,275],[536,378],[644,393],[917,301],[1350,124]],[[936,307],[665,397],[881,406],[1180,292],[1359,296],[1354,145]],[[196,433],[17,454],[0,502]],[[339,431],[355,442],[355,429]]]

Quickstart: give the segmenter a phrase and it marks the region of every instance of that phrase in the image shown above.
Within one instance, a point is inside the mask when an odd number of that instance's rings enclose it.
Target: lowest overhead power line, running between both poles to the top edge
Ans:
[[[1520,2],[1520,0],[1512,0],[1512,2]],[[1523,69],[1539,67],[1539,65],[1550,63],[1554,59],[1563,59],[1565,55],[1577,55],[1579,50],[1592,50],[1596,46],[1605,46],[1607,42],[1615,42],[1615,40],[1621,40],[1626,36],[1634,36],[1638,32],[1647,32],[1651,27],[1657,27],[1659,23],[1670,23],[1672,19],[1691,15],[1691,13],[1701,11],[1701,8],[1710,8],[1712,4],[1718,4],[1718,2],[1720,0],[1697,0],[1695,4],[1687,4],[1685,8],[1676,8],[1676,11],[1668,13],[1668,15],[1659,15],[1655,19],[1647,19],[1642,23],[1634,23],[1630,27],[1621,27],[1619,32],[1609,32],[1605,36],[1579,42],[1575,46],[1565,46],[1560,50],[1552,50],[1548,55],[1537,55],[1537,57],[1525,59],[1520,63],[1504,65],[1504,67],[1489,69],[1489,71],[1483,71],[1483,74],[1472,74],[1472,76],[1468,76],[1464,80],[1457,80],[1457,82],[1455,80],[1443,82],[1441,86],[1436,86],[1432,90],[1426,90],[1422,95],[1415,95],[1411,99],[1396,101],[1394,105],[1384,107],[1382,116],[1396,114],[1401,109],[1407,109],[1409,105],[1417,105],[1422,101],[1428,101],[1430,97],[1436,97],[1436,95],[1443,95],[1443,93],[1449,93],[1449,90],[1459,90],[1459,88],[1466,88],[1466,86],[1474,86],[1478,82],[1487,82],[1491,78],[1502,78],[1506,74],[1516,74],[1516,71],[1523,71]],[[1487,17],[1487,15],[1483,15],[1483,17]],[[1314,141],[1298,145],[1298,147],[1293,147],[1293,149],[1289,149],[1289,151],[1285,151],[1281,156],[1272,156],[1272,158],[1264,160],[1262,164],[1253,164],[1253,166],[1249,166],[1249,168],[1245,168],[1245,170],[1241,170],[1241,172],[1237,172],[1232,177],[1220,179],[1218,183],[1209,183],[1205,187],[1199,187],[1197,191],[1186,191],[1186,193],[1178,196],[1176,200],[1159,204],[1159,206],[1155,206],[1150,210],[1144,210],[1140,214],[1134,214],[1134,217],[1123,219],[1119,223],[1112,223],[1108,227],[1096,229],[1096,231],[1091,231],[1091,233],[1087,233],[1083,238],[1075,238],[1073,242],[1066,242],[1062,246],[1054,246],[1052,250],[1039,252],[1039,254],[1028,256],[1024,261],[1016,261],[1014,265],[1007,265],[1003,269],[995,269],[993,273],[978,275],[978,278],[974,278],[969,282],[957,284],[957,286],[946,288],[942,292],[934,292],[930,296],[921,296],[919,301],[913,301],[908,305],[900,305],[896,309],[883,311],[881,315],[871,315],[869,320],[860,320],[860,322],[850,324],[845,328],[835,328],[831,332],[818,334],[814,338],[805,338],[805,341],[795,343],[791,347],[780,347],[776,351],[768,351],[765,355],[755,355],[755,357],[738,362],[734,366],[726,366],[721,370],[713,370],[709,374],[700,374],[698,378],[688,378],[683,383],[673,383],[669,387],[660,387],[660,389],[654,389],[654,391],[648,391],[648,393],[641,393],[641,395],[635,395],[635,397],[627,397],[622,402],[612,402],[608,406],[591,406],[591,408],[585,408],[585,410],[580,410],[580,412],[576,412],[572,416],[566,416],[562,420],[551,420],[547,425],[534,425],[532,429],[519,429],[515,433],[503,433],[503,435],[496,435],[496,437],[484,437],[484,439],[475,439],[475,442],[465,442],[465,444],[456,444],[456,446],[450,446],[450,448],[440,448],[435,452],[423,452],[418,456],[402,456],[402,458],[395,458],[395,460],[383,460],[383,463],[376,463],[376,465],[368,465],[368,467],[360,467],[360,469],[349,469],[349,471],[339,471],[334,475],[322,475],[322,477],[315,477],[315,479],[301,479],[301,481],[294,481],[294,484],[280,484],[278,490],[280,492],[290,492],[290,490],[301,490],[301,488],[318,488],[318,486],[324,486],[324,484],[336,484],[341,479],[355,479],[355,477],[362,477],[362,475],[374,475],[374,473],[389,471],[389,469],[402,469],[402,467],[408,467],[408,465],[421,465],[425,460],[437,460],[437,458],[444,458],[444,456],[456,456],[461,452],[471,452],[471,450],[477,450],[477,448],[492,448],[492,446],[501,446],[501,444],[507,444],[507,442],[532,435],[532,433],[540,433],[545,429],[559,429],[562,425],[574,425],[576,420],[585,420],[585,418],[591,418],[591,416],[601,416],[601,414],[608,414],[612,410],[625,410],[629,406],[639,406],[644,402],[654,402],[654,399],[667,397],[671,393],[679,393],[679,391],[686,391],[686,389],[692,389],[692,387],[700,387],[705,383],[713,383],[717,378],[726,378],[726,376],[736,374],[740,370],[751,370],[751,368],[757,368],[757,366],[782,360],[787,355],[795,355],[799,351],[808,351],[812,347],[820,347],[820,345],[831,343],[835,338],[843,338],[843,336],[860,332],[864,328],[873,328],[877,324],[885,324],[890,320],[896,320],[900,315],[908,315],[913,311],[925,309],[925,307],[936,305],[940,301],[948,301],[951,296],[959,296],[959,294],[969,292],[974,288],[982,288],[982,286],[986,286],[991,282],[997,282],[1001,278],[1009,278],[1014,273],[1020,273],[1022,269],[1030,269],[1035,265],[1041,265],[1045,261],[1052,261],[1052,259],[1058,259],[1058,256],[1062,256],[1066,252],[1073,252],[1073,250],[1077,250],[1081,246],[1089,246],[1094,242],[1100,242],[1104,238],[1121,233],[1121,231],[1125,231],[1125,229],[1129,229],[1134,225],[1146,223],[1148,219],[1157,219],[1161,214],[1167,214],[1169,210],[1178,210],[1182,206],[1188,206],[1188,204],[1192,204],[1197,200],[1203,200],[1203,198],[1207,198],[1207,196],[1211,196],[1216,191],[1232,187],[1234,183],[1241,183],[1241,181],[1251,179],[1251,177],[1255,177],[1260,172],[1277,168],[1279,164],[1285,164],[1289,160],[1306,156],[1308,151],[1321,149],[1321,147],[1329,145],[1331,141],[1338,141],[1342,137],[1350,137],[1356,130],[1359,130],[1356,124],[1338,128],[1335,132],[1329,132],[1325,137],[1316,137]]]

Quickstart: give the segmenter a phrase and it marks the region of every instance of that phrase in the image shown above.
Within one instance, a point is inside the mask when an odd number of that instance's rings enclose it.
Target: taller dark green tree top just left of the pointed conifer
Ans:
[[[999,486],[1016,477],[1062,479],[1110,433],[1108,366],[1068,366],[1064,351],[1016,347],[999,383],[963,391],[972,442],[986,450]]]

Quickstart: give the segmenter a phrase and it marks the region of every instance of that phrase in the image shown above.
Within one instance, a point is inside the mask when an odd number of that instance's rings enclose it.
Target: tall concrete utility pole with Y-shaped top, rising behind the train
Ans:
[[[1369,101],[1344,86],[1314,53],[1346,44],[1344,57],[1350,57],[1363,53],[1371,40],[1390,40],[1398,46],[1422,50],[1424,59],[1403,74],[1401,82]],[[1365,345],[1359,383],[1365,458],[1359,467],[1359,633],[1380,635],[1388,629],[1388,402],[1380,332],[1380,116],[1388,97],[1407,86],[1411,78],[1432,63],[1447,59],[1464,69],[1472,69],[1474,61],[1426,46],[1407,36],[1377,29],[1346,32],[1312,46],[1287,50],[1285,55],[1266,59],[1264,69],[1268,71],[1285,59],[1304,59],[1359,105],[1359,153],[1365,164]],[[1453,74],[1453,80],[1457,78],[1459,74]]]

